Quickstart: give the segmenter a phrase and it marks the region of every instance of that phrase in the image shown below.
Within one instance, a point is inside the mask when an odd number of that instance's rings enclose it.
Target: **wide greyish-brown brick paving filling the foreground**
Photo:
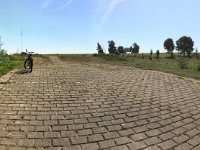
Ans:
[[[200,149],[198,82],[52,60],[1,86],[0,150]]]

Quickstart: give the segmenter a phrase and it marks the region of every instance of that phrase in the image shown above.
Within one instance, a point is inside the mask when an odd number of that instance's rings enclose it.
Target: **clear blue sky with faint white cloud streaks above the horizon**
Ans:
[[[140,45],[140,52],[190,36],[200,48],[199,0],[0,0],[0,36],[8,53],[95,53]],[[22,32],[22,36],[21,36]]]

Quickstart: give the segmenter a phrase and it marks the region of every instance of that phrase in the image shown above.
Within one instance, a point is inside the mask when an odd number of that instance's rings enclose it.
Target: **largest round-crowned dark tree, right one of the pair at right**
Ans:
[[[176,41],[176,49],[178,51],[181,51],[181,53],[184,54],[187,53],[188,56],[193,52],[193,46],[194,42],[192,41],[192,38],[189,36],[182,36],[180,39]]]

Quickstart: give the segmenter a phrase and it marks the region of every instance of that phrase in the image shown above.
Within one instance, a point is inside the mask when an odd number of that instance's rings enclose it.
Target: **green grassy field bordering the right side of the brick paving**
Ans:
[[[153,55],[153,60],[149,59],[149,54],[143,54],[144,59],[142,59],[141,54],[126,54],[120,56],[110,56],[110,55],[59,55],[61,60],[75,61],[75,62],[91,62],[91,63],[109,63],[114,65],[125,65],[133,66],[136,68],[156,70],[166,73],[175,74],[182,77],[194,78],[200,80],[200,59],[195,58],[183,58],[176,54],[176,59],[168,59],[169,54],[161,54],[160,59],[155,59],[155,54]],[[182,67],[184,65],[184,67]],[[182,69],[185,68],[185,69]]]

